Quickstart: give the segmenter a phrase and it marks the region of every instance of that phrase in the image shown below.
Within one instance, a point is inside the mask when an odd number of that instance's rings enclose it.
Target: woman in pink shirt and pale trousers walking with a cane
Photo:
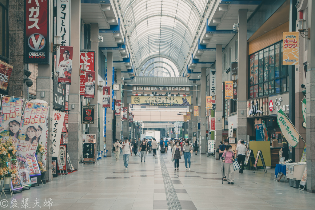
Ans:
[[[233,159],[234,159],[234,152],[232,151],[232,146],[227,145],[225,151],[221,157],[222,161],[224,162],[224,170],[226,171],[227,175],[227,184],[234,184],[234,169],[233,169]]]

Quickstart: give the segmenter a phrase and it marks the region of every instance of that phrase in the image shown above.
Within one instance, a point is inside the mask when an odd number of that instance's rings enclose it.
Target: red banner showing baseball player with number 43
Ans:
[[[58,83],[71,84],[73,47],[60,46],[60,54],[57,55]]]

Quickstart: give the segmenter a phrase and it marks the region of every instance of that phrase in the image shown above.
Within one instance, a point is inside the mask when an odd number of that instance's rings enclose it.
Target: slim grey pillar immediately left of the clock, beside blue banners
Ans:
[[[107,53],[107,86],[109,87],[110,95],[112,96],[112,77],[113,73],[113,53]],[[112,111],[112,97],[109,97],[109,107],[106,108],[106,150],[107,156],[112,156],[113,147],[113,133],[112,133],[112,121],[113,121],[113,111]]]

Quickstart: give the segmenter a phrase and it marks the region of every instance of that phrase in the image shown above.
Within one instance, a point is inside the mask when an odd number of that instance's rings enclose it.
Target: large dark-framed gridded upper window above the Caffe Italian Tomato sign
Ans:
[[[249,55],[249,99],[289,91],[281,55],[282,41]]]

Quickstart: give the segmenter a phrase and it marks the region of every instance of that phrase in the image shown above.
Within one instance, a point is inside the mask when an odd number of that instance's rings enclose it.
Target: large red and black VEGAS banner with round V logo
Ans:
[[[25,1],[24,63],[49,64],[49,3]]]

